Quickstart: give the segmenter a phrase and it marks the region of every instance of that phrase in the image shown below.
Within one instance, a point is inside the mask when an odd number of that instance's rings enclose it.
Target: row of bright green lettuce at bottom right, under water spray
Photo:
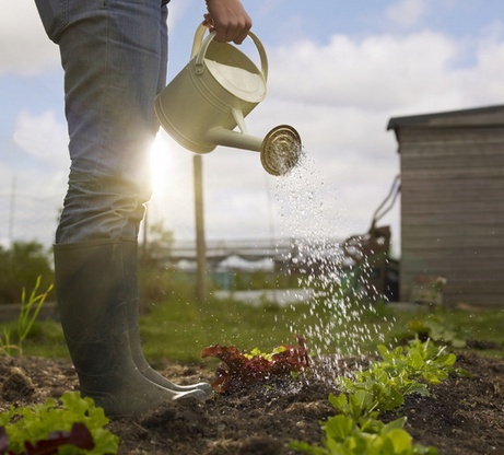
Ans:
[[[435,455],[436,448],[413,444],[403,429],[406,418],[382,422],[379,413],[399,408],[408,394],[429,395],[425,383],[439,384],[454,372],[456,357],[446,347],[415,339],[409,347],[379,346],[383,361],[352,378],[338,378],[343,390],[330,395],[339,415],[324,424],[324,446],[294,441],[291,447],[313,455]]]

